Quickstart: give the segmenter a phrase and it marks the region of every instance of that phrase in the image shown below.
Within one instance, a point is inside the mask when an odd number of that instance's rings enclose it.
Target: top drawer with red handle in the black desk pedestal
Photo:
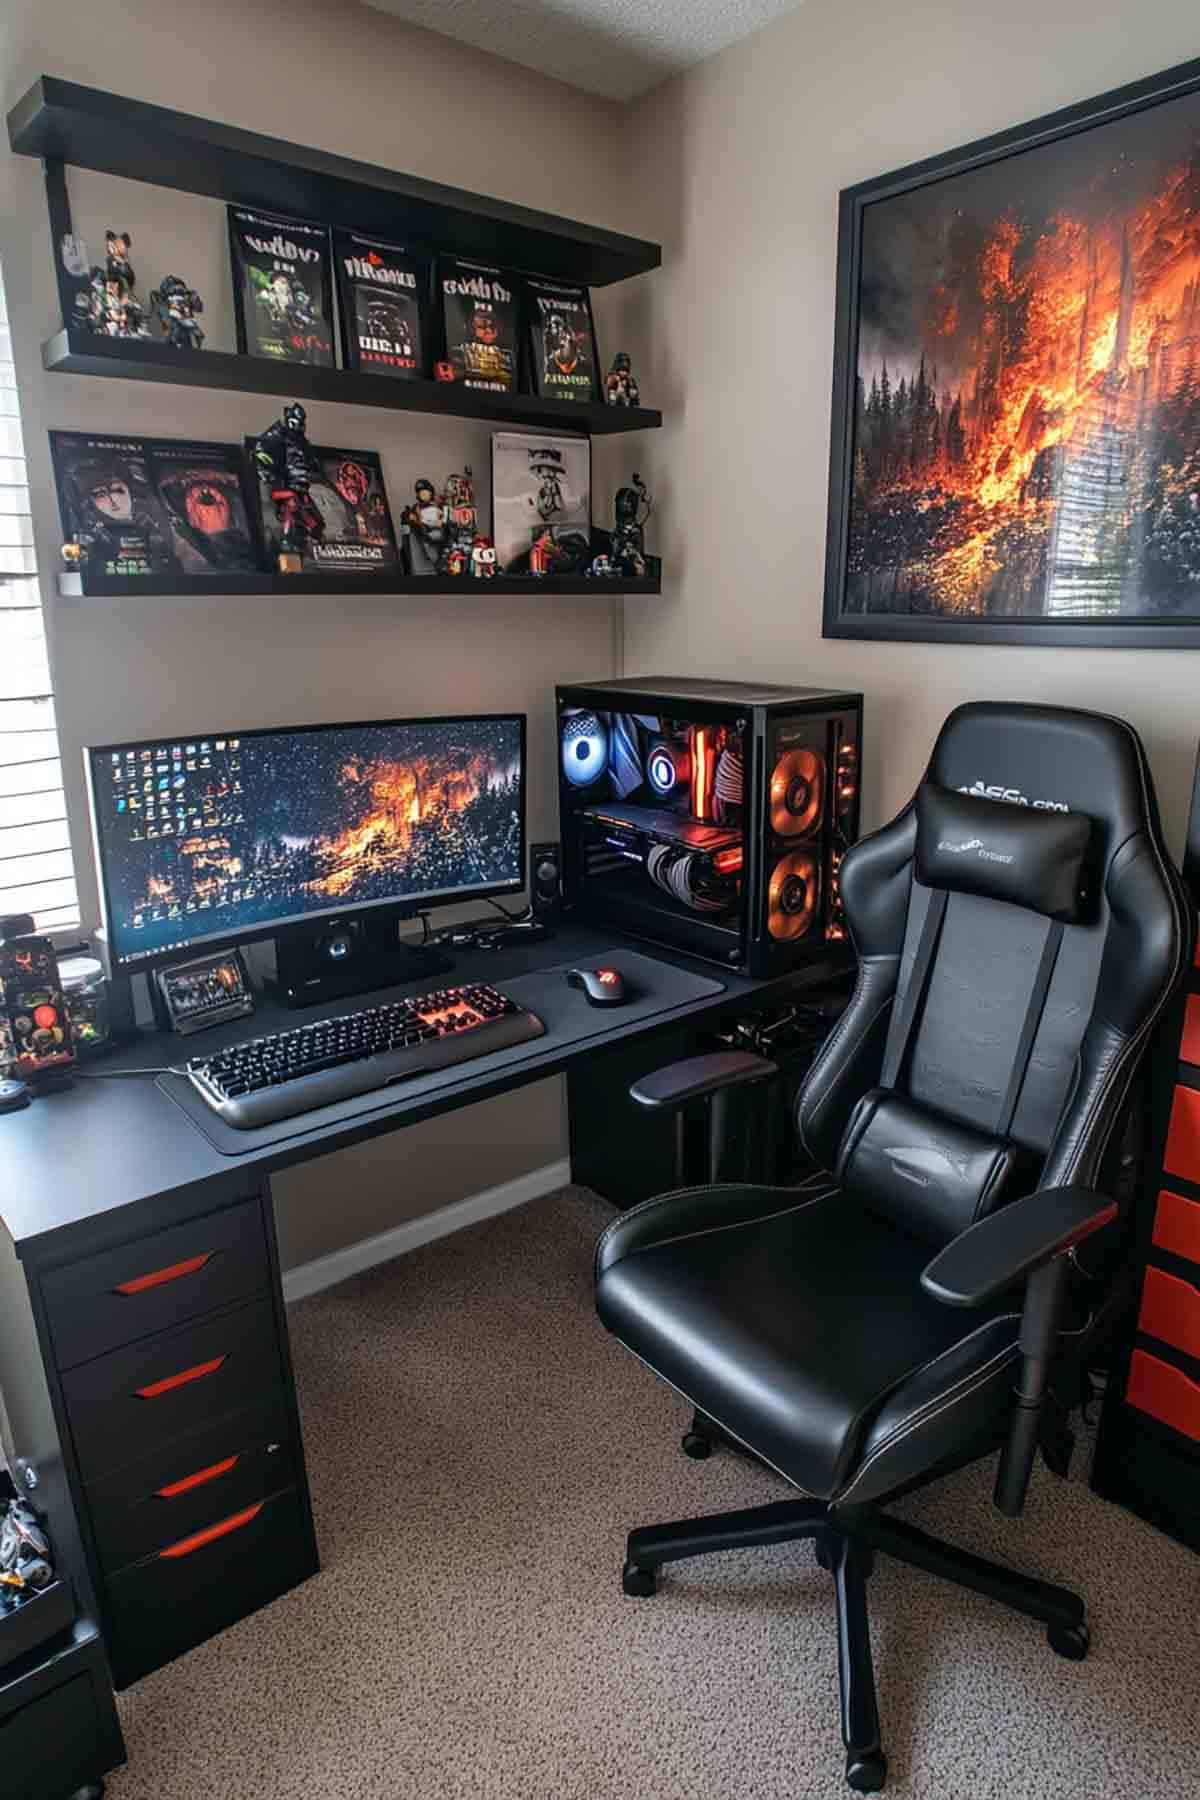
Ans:
[[[85,1256],[41,1280],[54,1355],[74,1368],[268,1285],[257,1195],[203,1219]]]

